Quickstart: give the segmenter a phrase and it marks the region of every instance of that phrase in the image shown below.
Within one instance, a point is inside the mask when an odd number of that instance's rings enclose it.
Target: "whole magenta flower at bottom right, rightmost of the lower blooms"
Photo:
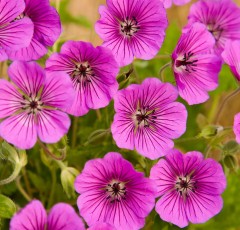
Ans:
[[[172,150],[152,167],[150,178],[160,196],[156,211],[164,221],[183,228],[189,222],[204,223],[222,209],[223,169],[215,160],[205,160],[200,152]]]

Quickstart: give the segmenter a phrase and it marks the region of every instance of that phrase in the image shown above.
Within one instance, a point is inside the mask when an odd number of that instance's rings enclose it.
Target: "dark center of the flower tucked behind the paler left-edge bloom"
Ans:
[[[84,86],[91,82],[91,78],[95,76],[92,68],[88,63],[77,63],[74,70],[70,73],[73,84],[82,83]]]

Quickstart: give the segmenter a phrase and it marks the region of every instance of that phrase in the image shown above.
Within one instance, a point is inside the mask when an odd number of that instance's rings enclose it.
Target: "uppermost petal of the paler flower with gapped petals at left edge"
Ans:
[[[8,68],[11,80],[28,96],[37,95],[45,81],[44,70],[35,62],[15,61]]]

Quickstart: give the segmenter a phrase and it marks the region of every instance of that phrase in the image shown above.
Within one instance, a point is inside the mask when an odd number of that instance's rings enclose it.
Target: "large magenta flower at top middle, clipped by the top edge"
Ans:
[[[120,66],[130,64],[134,56],[149,60],[158,53],[168,24],[160,0],[108,0],[99,13],[95,30]]]

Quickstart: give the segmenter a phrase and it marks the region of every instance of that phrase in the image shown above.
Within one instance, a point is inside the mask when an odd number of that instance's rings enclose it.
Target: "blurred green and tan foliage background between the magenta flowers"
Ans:
[[[133,82],[140,83],[148,76],[159,77],[161,67],[170,61],[164,55],[170,55],[174,50],[181,34],[181,28],[187,21],[189,8],[193,2],[184,6],[173,5],[171,9],[167,10],[169,28],[159,55],[150,61],[135,60],[133,64],[134,73],[125,82],[125,86]],[[240,6],[240,0],[235,0],[235,2]],[[63,33],[58,40],[58,50],[66,40],[82,40],[91,42],[95,46],[101,45],[102,41],[94,30],[94,24],[99,18],[98,7],[101,4],[105,4],[105,1],[60,1],[59,13],[63,23]],[[52,5],[56,6],[56,1],[52,1]],[[40,64],[44,65],[46,58],[40,60]],[[0,76],[7,77],[8,65],[9,62],[0,63]],[[129,70],[129,67],[123,69],[122,72],[127,70]],[[174,78],[170,69],[164,72],[164,77],[166,81],[174,84]],[[232,158],[229,161],[229,158],[227,160],[226,157],[230,153],[222,150],[215,144],[220,142],[223,146],[228,141],[234,140],[234,135],[228,130],[211,138],[196,138],[204,127],[216,124],[216,117],[222,102],[236,88],[237,84],[234,77],[229,68],[224,65],[219,78],[219,87],[214,92],[211,92],[208,102],[190,107],[179,99],[186,105],[189,115],[187,132],[181,139],[176,140],[176,147],[180,148],[183,152],[190,150],[198,150],[205,154],[207,152],[208,157],[213,157],[223,164],[228,178],[228,186],[223,194],[224,207],[221,213],[205,224],[189,225],[185,229],[240,230],[240,152],[235,151],[231,153]],[[232,97],[226,103],[220,114],[218,125],[231,127],[233,125],[233,117],[237,112],[240,112],[240,95]],[[151,167],[153,162],[140,157],[134,151],[119,150],[116,147],[109,133],[113,115],[113,103],[111,103],[107,108],[90,111],[84,117],[72,118],[72,127],[68,135],[68,155],[66,159],[68,165],[81,171],[87,160],[102,157],[109,151],[119,151],[138,170],[148,174],[149,167]],[[38,146],[28,151],[28,161],[27,167],[21,174],[21,186],[27,191],[30,190],[32,198],[40,199],[46,208],[50,208],[54,203],[60,201],[75,205],[76,197],[69,199],[62,189],[59,178],[60,169],[53,162],[47,160],[42,151],[39,152]],[[11,165],[8,162],[0,160],[0,179],[7,177],[9,167]],[[53,181],[55,187],[52,186]],[[10,196],[19,207],[23,207],[27,203],[23,195],[19,192],[18,185],[15,182],[0,187],[0,193]],[[0,229],[8,229],[8,221],[3,221]],[[158,215],[152,212],[147,219],[147,225],[144,229],[174,230],[179,228],[161,221]]]

